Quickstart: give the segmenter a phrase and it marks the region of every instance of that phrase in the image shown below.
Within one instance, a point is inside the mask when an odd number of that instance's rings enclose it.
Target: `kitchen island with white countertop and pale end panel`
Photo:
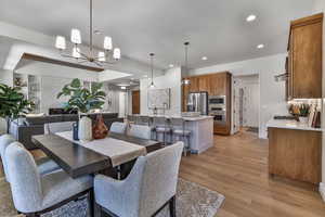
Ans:
[[[155,117],[155,115],[139,115]],[[190,149],[193,154],[200,154],[209,148],[213,146],[213,117],[212,116],[194,116],[182,117],[180,115],[156,115],[158,117],[183,118],[185,120],[185,129],[191,130]]]

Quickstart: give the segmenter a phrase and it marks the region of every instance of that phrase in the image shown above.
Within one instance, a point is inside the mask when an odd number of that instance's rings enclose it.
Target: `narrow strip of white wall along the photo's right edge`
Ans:
[[[314,13],[325,12],[325,0],[315,0]],[[325,22],[323,23],[323,41],[325,41]],[[323,54],[325,53],[325,42],[323,42]],[[323,55],[323,68],[325,66],[325,55]],[[323,114],[322,114],[322,127],[325,128],[325,76],[323,69]],[[323,200],[325,201],[325,130],[323,130],[323,164],[322,164],[322,184],[321,192],[323,193]]]

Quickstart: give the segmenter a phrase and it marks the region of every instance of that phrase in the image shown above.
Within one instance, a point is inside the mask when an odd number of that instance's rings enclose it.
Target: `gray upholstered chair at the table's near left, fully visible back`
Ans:
[[[5,150],[13,202],[20,213],[39,217],[86,194],[92,201],[91,176],[73,179],[63,170],[40,176],[31,154],[21,145],[13,142]],[[93,214],[92,203],[90,207]]]

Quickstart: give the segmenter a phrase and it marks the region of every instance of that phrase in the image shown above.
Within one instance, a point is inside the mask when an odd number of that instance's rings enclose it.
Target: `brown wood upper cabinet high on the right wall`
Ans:
[[[322,98],[323,14],[291,22],[288,99]]]

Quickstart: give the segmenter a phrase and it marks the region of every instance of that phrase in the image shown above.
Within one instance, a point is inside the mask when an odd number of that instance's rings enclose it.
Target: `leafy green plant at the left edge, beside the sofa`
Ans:
[[[25,99],[17,87],[9,87],[0,84],[0,117],[6,120],[6,133],[10,131],[10,123],[23,117],[32,111],[32,102]]]

